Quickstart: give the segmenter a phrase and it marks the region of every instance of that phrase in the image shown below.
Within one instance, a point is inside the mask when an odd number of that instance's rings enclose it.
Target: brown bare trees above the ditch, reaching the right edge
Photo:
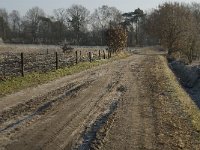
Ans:
[[[172,59],[191,63],[200,54],[200,3],[164,3],[148,13],[145,29]]]

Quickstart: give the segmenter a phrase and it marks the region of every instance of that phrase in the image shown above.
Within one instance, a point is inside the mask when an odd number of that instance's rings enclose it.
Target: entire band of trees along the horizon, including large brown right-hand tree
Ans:
[[[138,8],[127,13],[106,5],[90,13],[81,5],[72,5],[55,9],[52,16],[39,7],[24,16],[17,10],[0,9],[4,42],[104,46],[107,29],[115,26],[126,30],[127,46],[160,44],[170,56],[189,62],[200,52],[200,3],[167,2],[149,12]]]

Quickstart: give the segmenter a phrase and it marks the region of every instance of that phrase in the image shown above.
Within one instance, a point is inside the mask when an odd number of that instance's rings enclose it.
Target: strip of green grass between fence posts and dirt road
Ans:
[[[64,69],[58,69],[54,71],[50,71],[47,73],[29,73],[26,74],[24,77],[15,77],[8,79],[6,81],[0,82],[0,97],[3,97],[7,94],[28,88],[28,87],[34,87],[39,84],[44,84],[49,81],[53,81],[55,79],[59,79],[61,77],[72,75],[90,68],[93,68],[95,66],[99,66],[105,63],[109,63],[115,60],[123,59],[128,57],[129,54],[127,53],[119,53],[115,56],[113,56],[111,59],[106,60],[98,60],[94,61],[92,63],[90,62],[81,62],[77,65],[66,67]]]

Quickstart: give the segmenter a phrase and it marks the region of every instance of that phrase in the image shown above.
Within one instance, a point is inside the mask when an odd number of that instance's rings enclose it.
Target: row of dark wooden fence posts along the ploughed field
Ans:
[[[103,56],[101,54],[103,53]],[[85,54],[85,55],[84,55]],[[111,54],[108,53],[110,58]],[[0,81],[7,77],[24,76],[31,72],[47,72],[59,68],[69,67],[79,62],[92,62],[106,59],[104,50],[87,52],[75,51],[66,53],[6,53],[0,54]]]

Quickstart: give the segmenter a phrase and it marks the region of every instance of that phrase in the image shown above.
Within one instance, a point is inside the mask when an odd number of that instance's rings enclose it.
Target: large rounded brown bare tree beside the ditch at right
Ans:
[[[196,43],[196,21],[189,7],[179,3],[160,5],[148,16],[148,32],[160,39],[168,54],[186,55],[191,62]]]

